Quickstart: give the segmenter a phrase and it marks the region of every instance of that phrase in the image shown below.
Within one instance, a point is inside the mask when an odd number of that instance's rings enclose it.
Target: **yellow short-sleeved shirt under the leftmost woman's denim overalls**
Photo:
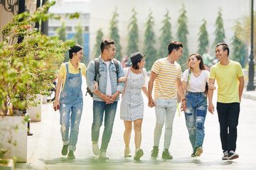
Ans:
[[[75,69],[75,67],[73,67],[71,62],[70,61],[68,62],[68,72],[70,72],[71,74],[78,74],[79,73],[79,69],[81,69],[81,74],[84,77],[86,77],[86,67],[85,67],[85,64],[79,62],[78,63],[78,68]],[[62,89],[61,89],[61,91],[63,91],[64,85],[65,85],[65,78],[66,78],[66,75],[67,75],[67,68],[65,67],[65,63],[60,65],[60,69],[58,71],[58,74],[63,77],[63,86],[62,86]]]

